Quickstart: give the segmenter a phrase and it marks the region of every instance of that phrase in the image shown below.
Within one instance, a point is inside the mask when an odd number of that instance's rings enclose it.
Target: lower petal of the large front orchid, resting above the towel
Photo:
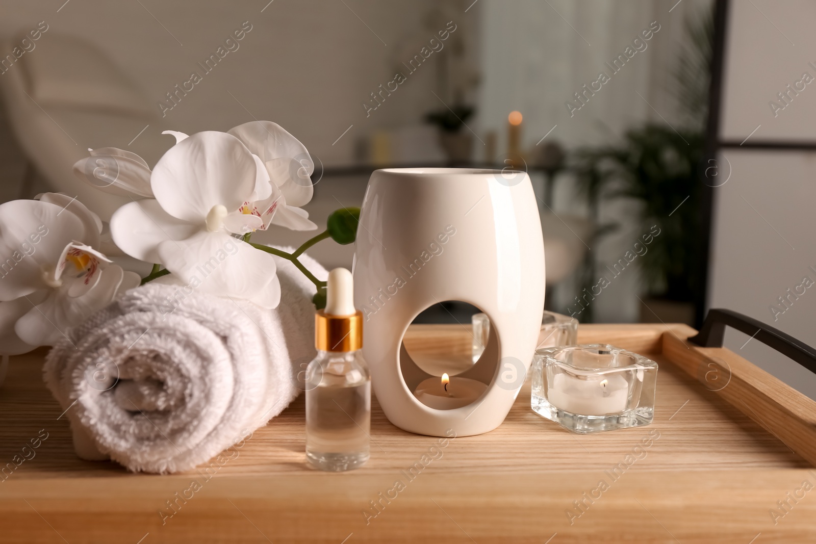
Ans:
[[[256,250],[226,232],[198,232],[178,245],[163,241],[158,254],[167,269],[185,284],[204,293],[251,300],[266,308],[277,307],[281,287],[271,254]]]

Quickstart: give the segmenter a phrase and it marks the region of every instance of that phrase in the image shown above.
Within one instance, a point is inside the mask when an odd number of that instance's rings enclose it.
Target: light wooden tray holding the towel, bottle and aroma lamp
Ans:
[[[209,475],[83,462],[42,385],[44,352],[14,357],[0,467],[47,439],[0,481],[0,542],[816,542],[816,402],[693,334],[579,328],[580,343],[659,362],[648,427],[571,434],[530,410],[528,383],[501,427],[442,445],[375,402],[370,462],[343,474],[304,465],[303,396]],[[406,342],[470,350],[459,325],[416,325]]]

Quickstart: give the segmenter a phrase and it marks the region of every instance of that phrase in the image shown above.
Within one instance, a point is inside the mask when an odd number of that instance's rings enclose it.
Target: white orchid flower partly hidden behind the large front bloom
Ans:
[[[184,132],[165,130],[162,134],[175,136],[176,144],[188,136]],[[259,166],[255,194],[242,202],[240,210],[263,220],[259,230],[270,224],[296,231],[311,231],[317,225],[301,210],[312,200],[311,175],[314,162],[304,144],[290,135],[282,126],[269,121],[252,121],[228,130],[227,134],[246,145]],[[271,182],[266,188],[265,182]]]

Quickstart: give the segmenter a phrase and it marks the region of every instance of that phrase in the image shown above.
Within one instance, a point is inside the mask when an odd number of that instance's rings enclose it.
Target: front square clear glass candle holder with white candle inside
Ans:
[[[648,425],[654,418],[658,364],[609,344],[535,352],[530,405],[579,433]]]

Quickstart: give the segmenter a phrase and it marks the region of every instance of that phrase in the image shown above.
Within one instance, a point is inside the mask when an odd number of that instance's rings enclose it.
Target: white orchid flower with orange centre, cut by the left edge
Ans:
[[[0,352],[53,345],[66,330],[139,285],[94,249],[100,219],[58,193],[0,205]]]

